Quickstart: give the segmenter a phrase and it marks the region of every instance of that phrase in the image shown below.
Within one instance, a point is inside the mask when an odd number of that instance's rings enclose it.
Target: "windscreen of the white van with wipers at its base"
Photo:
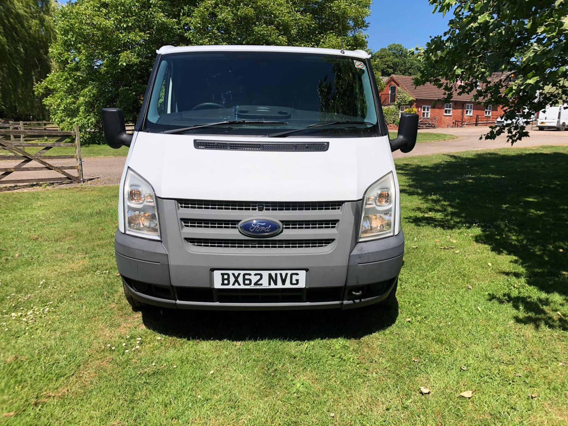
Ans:
[[[198,127],[182,132],[264,136],[298,130],[294,135],[314,137],[379,132],[364,60],[279,52],[162,56],[144,129],[191,126]]]

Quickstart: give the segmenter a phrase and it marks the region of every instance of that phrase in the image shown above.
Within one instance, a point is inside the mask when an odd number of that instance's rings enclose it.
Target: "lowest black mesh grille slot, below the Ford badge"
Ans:
[[[321,248],[333,243],[333,239],[321,240],[222,240],[206,238],[187,238],[195,247],[243,248],[243,249],[301,249]]]

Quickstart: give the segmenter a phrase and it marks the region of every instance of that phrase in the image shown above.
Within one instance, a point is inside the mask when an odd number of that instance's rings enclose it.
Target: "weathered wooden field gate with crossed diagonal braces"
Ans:
[[[38,141],[38,138],[43,140]],[[68,139],[74,141],[65,142]],[[34,141],[26,142],[26,140]],[[54,147],[74,148],[74,153],[65,155],[45,155],[45,153],[49,153],[49,150]],[[26,151],[26,148],[40,148],[40,150],[35,153],[31,153]],[[65,159],[73,159],[73,164],[53,164],[54,161],[51,161],[56,160],[56,162],[61,162],[61,160]],[[17,130],[0,129],[0,161],[19,161],[9,167],[0,167],[0,185],[43,182],[83,182],[81,141],[77,127],[73,132],[43,129],[33,130],[23,127],[20,127]],[[28,166],[30,163],[34,164],[34,162],[38,165]],[[0,163],[0,165],[3,164],[5,163]],[[7,177],[14,177],[14,173],[21,175],[20,172],[45,172],[49,170],[52,170],[57,174],[51,177],[7,179]],[[66,170],[76,170],[77,174],[69,173]]]

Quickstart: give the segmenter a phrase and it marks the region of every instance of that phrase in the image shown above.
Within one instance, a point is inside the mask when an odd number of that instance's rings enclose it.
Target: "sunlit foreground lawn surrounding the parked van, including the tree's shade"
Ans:
[[[387,311],[132,312],[116,186],[0,193],[0,424],[566,425],[566,164],[397,160]]]

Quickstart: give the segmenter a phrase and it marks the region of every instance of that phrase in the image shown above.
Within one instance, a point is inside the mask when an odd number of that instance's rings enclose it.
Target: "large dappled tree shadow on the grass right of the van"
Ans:
[[[568,302],[567,168],[568,153],[511,150],[447,155],[427,165],[404,162],[397,172],[402,197],[422,201],[407,221],[445,229],[477,226],[478,243],[514,256],[527,284],[548,294],[508,292],[490,300],[511,303],[519,323],[566,330],[568,322],[554,306]]]

